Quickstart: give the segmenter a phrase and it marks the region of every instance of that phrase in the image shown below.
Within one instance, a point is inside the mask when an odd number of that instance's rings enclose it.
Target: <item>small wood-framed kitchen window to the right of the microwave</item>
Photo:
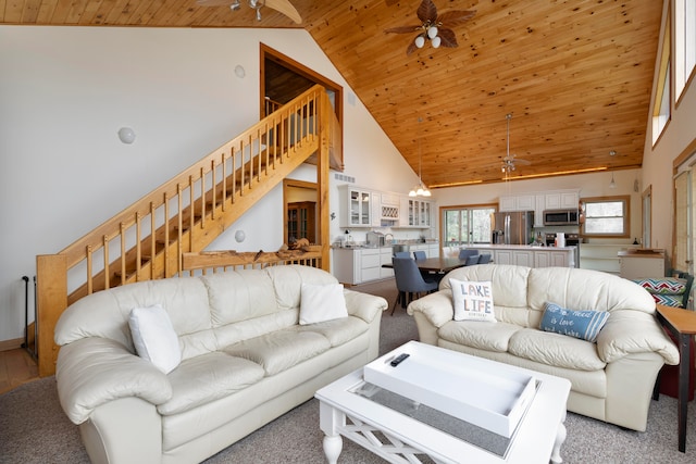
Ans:
[[[584,237],[625,238],[630,235],[630,197],[585,198]]]

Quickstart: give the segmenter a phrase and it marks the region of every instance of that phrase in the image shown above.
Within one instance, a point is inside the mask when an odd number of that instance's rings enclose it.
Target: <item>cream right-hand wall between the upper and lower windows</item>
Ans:
[[[667,3],[664,1],[662,28],[664,28]],[[657,71],[656,63],[651,90],[652,101],[648,113],[646,134],[652,134],[650,115],[655,104]],[[646,138],[643,152],[643,188],[645,189],[648,186],[652,188],[651,246],[654,248],[664,248],[670,256],[672,254],[674,225],[672,163],[694,139],[696,139],[696,81],[692,80],[691,86],[682,95],[679,106],[672,105],[672,117],[657,145],[652,147],[650,137]]]

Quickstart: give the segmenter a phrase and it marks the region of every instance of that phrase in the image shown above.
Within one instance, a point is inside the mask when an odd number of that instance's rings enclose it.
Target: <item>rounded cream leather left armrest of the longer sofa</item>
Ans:
[[[161,404],[172,397],[164,373],[107,338],[83,338],[61,347],[55,380],[61,406],[74,424],[119,398],[138,397]]]

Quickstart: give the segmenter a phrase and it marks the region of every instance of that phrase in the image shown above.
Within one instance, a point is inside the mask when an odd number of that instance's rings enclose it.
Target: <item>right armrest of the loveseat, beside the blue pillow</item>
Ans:
[[[634,353],[656,352],[666,364],[679,364],[679,350],[664,334],[654,314],[612,311],[597,336],[597,353],[606,363]]]

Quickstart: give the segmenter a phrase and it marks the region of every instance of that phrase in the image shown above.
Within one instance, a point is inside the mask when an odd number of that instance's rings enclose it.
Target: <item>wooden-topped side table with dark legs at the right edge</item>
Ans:
[[[696,312],[657,305],[657,318],[679,340],[679,450],[686,452],[686,406],[688,404],[689,339],[696,335]]]

